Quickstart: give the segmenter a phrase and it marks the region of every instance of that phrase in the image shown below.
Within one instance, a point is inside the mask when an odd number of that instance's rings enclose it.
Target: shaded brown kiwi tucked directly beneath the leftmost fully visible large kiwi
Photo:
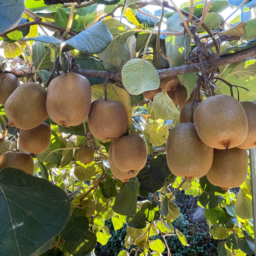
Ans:
[[[39,124],[33,129],[20,130],[20,148],[33,154],[43,153],[50,145],[51,135],[51,128],[46,123]]]

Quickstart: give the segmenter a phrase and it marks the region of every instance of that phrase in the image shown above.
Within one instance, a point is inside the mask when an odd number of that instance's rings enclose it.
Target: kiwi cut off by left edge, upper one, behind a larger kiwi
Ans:
[[[8,97],[19,86],[19,80],[10,73],[0,73],[0,104],[4,105]]]

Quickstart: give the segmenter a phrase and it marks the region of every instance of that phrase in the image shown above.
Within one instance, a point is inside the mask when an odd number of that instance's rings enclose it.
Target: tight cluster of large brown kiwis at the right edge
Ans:
[[[188,180],[204,175],[223,190],[240,186],[256,146],[256,104],[215,95],[187,103],[167,140],[167,163]]]

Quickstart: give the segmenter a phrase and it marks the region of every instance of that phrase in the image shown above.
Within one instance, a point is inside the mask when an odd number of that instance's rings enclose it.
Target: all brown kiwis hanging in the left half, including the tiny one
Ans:
[[[0,169],[9,166],[33,174],[32,157],[50,145],[51,129],[44,122],[48,117],[65,128],[77,126],[88,117],[90,132],[99,140],[112,142],[110,169],[118,179],[127,181],[146,164],[144,140],[136,134],[125,135],[128,116],[124,105],[117,100],[92,102],[91,86],[84,76],[62,74],[52,79],[48,90],[34,82],[19,85],[16,76],[9,73],[1,73],[0,82],[0,104],[4,105],[8,126],[20,129],[19,145],[25,151],[2,154]],[[94,159],[94,149],[81,146],[77,155],[80,162],[89,164]]]

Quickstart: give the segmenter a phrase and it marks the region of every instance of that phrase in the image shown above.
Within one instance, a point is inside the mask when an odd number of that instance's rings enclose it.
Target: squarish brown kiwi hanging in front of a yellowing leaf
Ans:
[[[88,115],[88,126],[100,140],[119,138],[128,126],[124,105],[118,100],[94,100]]]

